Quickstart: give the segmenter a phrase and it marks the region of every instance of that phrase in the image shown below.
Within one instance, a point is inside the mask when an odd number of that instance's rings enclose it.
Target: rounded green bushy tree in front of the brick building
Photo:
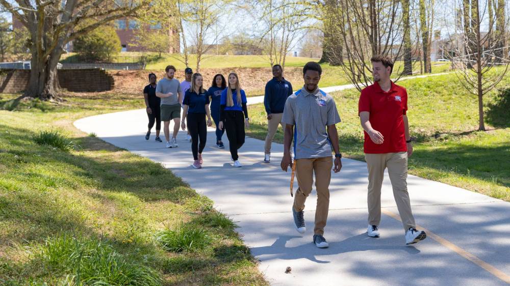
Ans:
[[[110,61],[112,56],[122,49],[119,36],[111,25],[103,25],[81,35],[73,45],[73,50],[84,61]]]

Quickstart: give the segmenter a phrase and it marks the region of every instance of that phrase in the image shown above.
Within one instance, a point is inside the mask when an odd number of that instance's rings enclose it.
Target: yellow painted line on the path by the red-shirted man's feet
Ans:
[[[381,212],[402,222],[402,220],[400,219],[400,216],[393,213],[393,212],[390,212],[388,210],[385,210],[385,209],[381,209]],[[432,238],[433,240],[439,242],[440,244],[442,244],[443,246],[445,246],[446,248],[449,248],[450,250],[456,252],[458,255],[461,255],[463,258],[471,261],[472,263],[478,265],[479,267],[487,270],[489,273],[491,273],[492,275],[498,277],[499,279],[503,280],[504,282],[510,284],[510,276],[508,276],[506,273],[504,273],[503,271],[497,269],[496,267],[490,265],[489,263],[487,262],[484,262],[483,260],[479,259],[477,256],[469,253],[468,251],[456,246],[455,244],[451,243],[450,241],[440,237],[439,235],[435,234],[435,233],[432,233],[431,231],[427,230],[426,228],[422,227],[422,226],[416,226],[419,230],[423,230],[425,231],[425,233],[427,234],[428,237]]]

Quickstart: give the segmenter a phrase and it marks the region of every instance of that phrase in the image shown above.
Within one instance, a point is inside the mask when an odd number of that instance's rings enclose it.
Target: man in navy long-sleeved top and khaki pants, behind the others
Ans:
[[[278,125],[281,124],[285,130],[285,124],[282,122],[282,116],[285,108],[285,101],[292,94],[292,84],[285,80],[282,75],[281,65],[273,66],[273,79],[266,83],[264,93],[264,106],[267,113],[267,136],[264,146],[264,162],[270,162],[271,143],[274,138]]]

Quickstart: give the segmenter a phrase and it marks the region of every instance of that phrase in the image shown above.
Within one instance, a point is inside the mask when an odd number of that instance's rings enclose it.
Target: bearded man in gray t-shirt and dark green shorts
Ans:
[[[167,66],[166,77],[158,81],[156,85],[156,96],[161,98],[161,120],[164,122],[166,148],[177,147],[177,133],[181,126],[181,102],[183,92],[179,80],[173,78],[174,66]],[[173,136],[170,142],[170,120],[173,119]]]

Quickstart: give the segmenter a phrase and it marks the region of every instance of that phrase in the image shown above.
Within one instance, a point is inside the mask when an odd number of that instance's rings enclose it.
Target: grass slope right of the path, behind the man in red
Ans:
[[[398,84],[409,94],[407,115],[411,135],[417,140],[409,160],[410,174],[510,202],[510,76],[484,97],[489,129],[485,132],[475,131],[477,97],[464,90],[456,75],[408,79]],[[340,148],[348,157],[364,160],[359,92],[351,89],[332,95],[342,119],[337,125]],[[249,112],[247,134],[264,139],[264,106],[250,106]],[[283,142],[281,130],[275,140]]]

